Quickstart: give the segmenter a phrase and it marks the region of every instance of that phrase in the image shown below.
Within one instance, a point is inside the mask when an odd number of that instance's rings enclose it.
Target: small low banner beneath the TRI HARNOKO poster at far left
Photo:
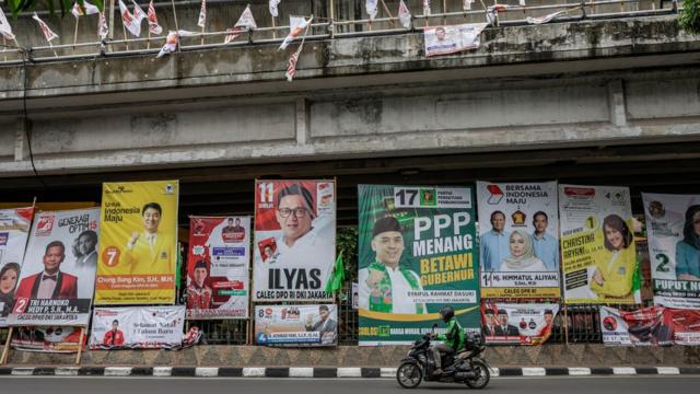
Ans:
[[[88,331],[83,335],[83,345],[88,340]],[[40,326],[16,327],[11,345],[21,351],[37,352],[78,352],[80,349],[81,327]]]

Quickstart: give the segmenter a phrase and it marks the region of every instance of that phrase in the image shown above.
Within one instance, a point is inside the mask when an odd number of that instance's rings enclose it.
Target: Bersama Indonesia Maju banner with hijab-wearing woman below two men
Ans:
[[[477,182],[482,298],[559,298],[557,183]]]

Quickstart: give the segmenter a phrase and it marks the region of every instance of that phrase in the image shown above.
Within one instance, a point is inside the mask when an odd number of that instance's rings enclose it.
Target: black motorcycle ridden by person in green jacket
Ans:
[[[435,326],[433,326],[434,331]],[[443,373],[434,375],[435,360],[430,349],[433,333],[416,340],[396,370],[396,380],[404,389],[416,389],[427,382],[465,383],[470,389],[483,389],[491,380],[489,364],[480,355],[486,349],[480,336],[468,334],[465,350],[442,357]]]

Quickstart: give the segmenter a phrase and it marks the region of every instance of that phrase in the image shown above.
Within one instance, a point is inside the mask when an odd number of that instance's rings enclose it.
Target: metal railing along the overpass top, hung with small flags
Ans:
[[[563,1],[563,0],[553,0]],[[462,1],[459,1],[462,3]],[[493,1],[493,4],[497,2]],[[446,4],[446,2],[443,2]],[[366,35],[402,34],[420,32],[425,26],[438,24],[479,23],[487,22],[487,13],[493,7],[479,0],[474,3],[474,9],[450,11],[447,7],[443,12],[431,15],[416,14],[411,18],[411,25],[404,27],[397,15],[388,18],[341,20],[332,15],[332,10],[327,11],[330,18],[317,18],[318,23],[311,26],[306,39],[332,39],[339,37],[353,37]],[[453,4],[454,5],[454,4]],[[665,5],[665,7],[664,7]],[[580,1],[538,5],[508,5],[500,12],[493,13],[492,26],[526,25],[527,16],[544,16],[556,11],[565,11],[556,22],[571,22],[599,19],[625,19],[640,15],[676,14],[681,8],[676,0],[655,1],[649,0],[604,0]],[[386,13],[386,12],[385,12]],[[289,32],[289,25],[259,26],[244,32],[230,43],[224,43],[224,37],[230,31],[192,32],[191,36],[182,36],[179,51],[201,50],[210,48],[225,48],[259,44],[281,43]],[[38,33],[37,33],[38,34]],[[125,37],[126,38],[126,37]],[[158,54],[165,42],[165,35],[150,36],[147,38],[103,39],[88,43],[44,45],[33,47],[18,47],[14,43],[4,40],[0,44],[0,65],[18,62],[44,62],[56,60],[91,59],[109,56],[129,56]]]

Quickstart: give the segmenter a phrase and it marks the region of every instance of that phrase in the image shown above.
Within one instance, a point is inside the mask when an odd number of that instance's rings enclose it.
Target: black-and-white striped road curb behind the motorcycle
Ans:
[[[312,367],[16,367],[0,368],[0,376],[187,376],[187,378],[337,378],[392,379],[396,368]],[[492,368],[491,376],[587,376],[587,375],[690,375],[700,368],[688,367],[523,367]]]

